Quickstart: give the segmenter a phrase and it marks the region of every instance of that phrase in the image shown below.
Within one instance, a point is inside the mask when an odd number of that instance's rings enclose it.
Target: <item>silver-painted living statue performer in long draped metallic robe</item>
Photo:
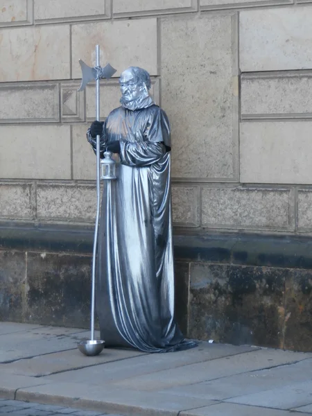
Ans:
[[[121,73],[121,107],[94,121],[87,139],[118,153],[103,193],[96,257],[96,311],[107,347],[173,352],[195,347],[174,319],[170,125],[139,67]]]

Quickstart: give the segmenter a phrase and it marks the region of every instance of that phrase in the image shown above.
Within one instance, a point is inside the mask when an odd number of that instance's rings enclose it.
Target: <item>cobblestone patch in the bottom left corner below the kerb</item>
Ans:
[[[122,416],[91,410],[79,410],[49,404],[28,403],[27,401],[0,399],[0,416]]]

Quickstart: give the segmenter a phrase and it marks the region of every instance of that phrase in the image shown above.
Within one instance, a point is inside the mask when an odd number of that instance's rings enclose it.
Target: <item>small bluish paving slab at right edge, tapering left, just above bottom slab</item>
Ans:
[[[283,388],[273,388],[265,392],[233,397],[226,401],[278,409],[305,406],[311,404],[312,401],[312,380],[303,383],[292,383]]]

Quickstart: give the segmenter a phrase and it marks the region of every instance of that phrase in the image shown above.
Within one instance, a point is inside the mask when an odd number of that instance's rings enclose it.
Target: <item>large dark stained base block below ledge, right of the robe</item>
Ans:
[[[284,273],[191,263],[189,336],[283,347]]]

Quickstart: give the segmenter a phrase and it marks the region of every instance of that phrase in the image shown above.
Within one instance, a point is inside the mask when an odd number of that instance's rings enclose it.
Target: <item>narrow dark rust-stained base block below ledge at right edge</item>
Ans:
[[[286,349],[312,352],[312,272],[291,270],[286,279]]]

